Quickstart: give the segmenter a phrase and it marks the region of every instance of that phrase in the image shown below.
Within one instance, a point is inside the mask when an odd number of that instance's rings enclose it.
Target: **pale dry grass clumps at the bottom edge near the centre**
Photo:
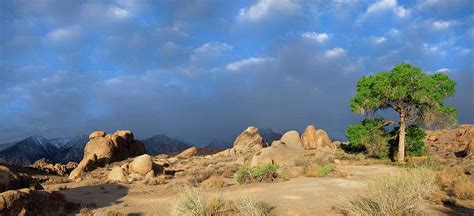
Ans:
[[[226,200],[217,195],[206,198],[198,188],[183,189],[182,198],[173,209],[173,215],[220,216],[220,215],[269,215],[271,208],[249,198]]]

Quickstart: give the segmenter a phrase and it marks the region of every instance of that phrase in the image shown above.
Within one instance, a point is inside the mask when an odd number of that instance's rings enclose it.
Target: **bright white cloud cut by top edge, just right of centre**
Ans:
[[[300,5],[294,0],[260,0],[249,8],[240,9],[238,19],[258,22],[271,16],[293,15],[300,11]]]

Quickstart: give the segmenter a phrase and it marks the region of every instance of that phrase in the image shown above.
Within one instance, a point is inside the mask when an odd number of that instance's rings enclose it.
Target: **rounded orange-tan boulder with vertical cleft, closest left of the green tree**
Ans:
[[[323,148],[336,149],[328,134],[324,130],[316,130],[314,125],[308,125],[301,135],[301,143],[305,149],[321,150]]]

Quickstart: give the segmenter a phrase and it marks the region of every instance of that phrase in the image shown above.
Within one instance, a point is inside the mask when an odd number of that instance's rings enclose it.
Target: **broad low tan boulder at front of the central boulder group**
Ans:
[[[255,153],[250,165],[255,167],[267,163],[276,163],[280,166],[294,166],[295,160],[303,155],[303,148],[288,146],[282,141],[273,141],[270,147],[263,148]]]

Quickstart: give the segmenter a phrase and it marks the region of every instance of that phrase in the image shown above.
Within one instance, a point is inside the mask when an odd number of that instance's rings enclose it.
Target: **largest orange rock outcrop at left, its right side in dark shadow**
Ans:
[[[145,146],[134,139],[130,131],[117,131],[114,134],[93,132],[84,148],[84,157],[71,172],[69,179],[76,179],[84,172],[129,157],[145,154]]]

